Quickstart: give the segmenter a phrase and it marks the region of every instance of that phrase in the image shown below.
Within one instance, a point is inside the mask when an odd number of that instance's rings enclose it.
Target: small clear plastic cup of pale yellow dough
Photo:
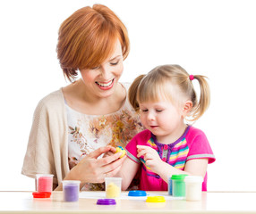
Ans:
[[[105,177],[106,198],[119,198],[121,186],[122,177]]]

